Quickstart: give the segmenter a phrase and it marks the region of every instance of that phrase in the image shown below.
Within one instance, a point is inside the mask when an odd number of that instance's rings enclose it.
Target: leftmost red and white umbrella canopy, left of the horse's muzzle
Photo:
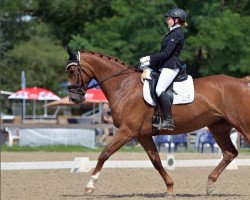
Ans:
[[[53,92],[44,88],[25,88],[11,94],[9,99],[26,99],[26,100],[60,100],[60,97]]]

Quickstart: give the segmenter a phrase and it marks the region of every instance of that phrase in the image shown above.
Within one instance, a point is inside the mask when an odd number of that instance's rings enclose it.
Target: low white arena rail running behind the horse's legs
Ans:
[[[173,160],[174,167],[212,167],[220,159],[203,160]],[[235,159],[237,166],[250,166],[250,159]],[[74,161],[49,161],[49,162],[1,162],[2,170],[30,170],[30,169],[71,169],[71,172],[90,171],[96,166],[97,161],[89,158],[75,158]],[[167,162],[162,161],[164,167]],[[106,161],[104,168],[153,168],[149,160],[111,160]]]

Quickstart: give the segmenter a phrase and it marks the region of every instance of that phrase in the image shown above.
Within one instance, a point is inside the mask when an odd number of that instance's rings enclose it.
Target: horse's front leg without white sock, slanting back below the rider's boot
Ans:
[[[140,142],[142,147],[147,152],[155,169],[160,173],[161,177],[163,178],[163,180],[167,186],[167,195],[172,195],[174,182],[162,166],[161,159],[160,159],[159,153],[157,151],[157,148],[155,146],[155,143],[152,139],[152,136],[138,137],[138,141]]]

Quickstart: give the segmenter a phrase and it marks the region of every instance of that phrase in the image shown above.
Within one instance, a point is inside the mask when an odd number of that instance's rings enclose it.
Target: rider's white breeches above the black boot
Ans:
[[[163,68],[156,86],[156,94],[159,97],[163,91],[165,91],[169,85],[173,82],[174,78],[180,71],[179,68],[169,69]]]

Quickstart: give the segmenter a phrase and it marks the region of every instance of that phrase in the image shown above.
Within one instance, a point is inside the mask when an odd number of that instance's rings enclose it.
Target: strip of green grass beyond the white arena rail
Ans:
[[[1,146],[1,152],[101,152],[104,147],[98,147],[95,149],[84,147],[84,146],[75,146],[75,145],[53,145],[53,146],[18,146],[13,145],[9,147],[7,145]],[[144,151],[142,147],[122,147],[119,152],[142,152]]]

